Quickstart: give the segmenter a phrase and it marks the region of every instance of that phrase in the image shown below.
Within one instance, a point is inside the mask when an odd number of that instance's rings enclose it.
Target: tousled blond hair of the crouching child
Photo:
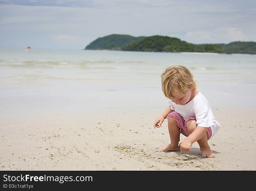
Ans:
[[[186,93],[193,85],[196,90],[196,84],[193,75],[189,69],[184,66],[170,66],[161,75],[163,94],[173,99],[174,95]]]

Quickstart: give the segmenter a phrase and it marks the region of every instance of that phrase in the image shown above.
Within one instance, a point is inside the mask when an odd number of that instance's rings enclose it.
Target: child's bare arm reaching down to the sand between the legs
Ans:
[[[184,140],[179,141],[180,151],[183,154],[184,151],[191,151],[192,144],[201,139],[207,131],[206,127],[197,126],[195,130]]]

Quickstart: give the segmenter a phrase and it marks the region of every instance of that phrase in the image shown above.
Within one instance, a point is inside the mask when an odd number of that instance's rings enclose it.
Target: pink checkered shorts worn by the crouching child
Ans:
[[[188,137],[189,132],[187,130],[187,122],[190,119],[196,119],[195,116],[192,116],[188,120],[184,121],[183,117],[181,117],[179,115],[179,113],[177,113],[176,111],[173,111],[172,113],[169,113],[166,118],[168,119],[169,117],[174,117],[175,121],[178,124],[178,127],[180,128],[180,130],[179,130],[180,133],[182,133],[182,135]],[[207,128],[206,134],[207,134],[207,140],[209,140],[209,138],[211,137],[211,127]]]

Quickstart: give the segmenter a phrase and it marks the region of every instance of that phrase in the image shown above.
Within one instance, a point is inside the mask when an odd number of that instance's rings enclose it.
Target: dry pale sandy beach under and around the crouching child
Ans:
[[[160,152],[167,121],[158,109],[1,121],[1,170],[255,170],[255,111],[214,110],[222,128],[209,140],[216,158]],[[117,115],[118,113],[118,115]],[[185,137],[181,135],[181,139]]]

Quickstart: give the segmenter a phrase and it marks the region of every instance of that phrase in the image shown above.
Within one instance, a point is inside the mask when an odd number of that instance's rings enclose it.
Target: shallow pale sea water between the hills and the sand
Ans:
[[[256,56],[0,48],[0,118],[165,109],[161,74],[188,67],[213,109],[256,109]]]

